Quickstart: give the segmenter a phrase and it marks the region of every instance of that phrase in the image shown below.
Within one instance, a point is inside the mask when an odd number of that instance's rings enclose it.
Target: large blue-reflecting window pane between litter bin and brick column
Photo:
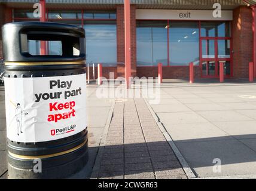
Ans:
[[[86,21],[86,62],[117,62],[117,26],[115,21]]]

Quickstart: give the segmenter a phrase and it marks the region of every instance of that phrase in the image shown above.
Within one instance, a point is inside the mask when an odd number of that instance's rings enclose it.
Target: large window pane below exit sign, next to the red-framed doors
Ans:
[[[199,23],[197,21],[170,21],[170,65],[199,65]]]

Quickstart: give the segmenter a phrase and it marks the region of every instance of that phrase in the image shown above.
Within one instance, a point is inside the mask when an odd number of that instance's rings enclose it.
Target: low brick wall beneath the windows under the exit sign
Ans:
[[[139,78],[144,76],[154,77],[158,76],[158,67],[137,67],[137,75]],[[195,78],[200,78],[200,67],[194,67]],[[163,67],[163,79],[188,79],[189,67],[172,66]]]

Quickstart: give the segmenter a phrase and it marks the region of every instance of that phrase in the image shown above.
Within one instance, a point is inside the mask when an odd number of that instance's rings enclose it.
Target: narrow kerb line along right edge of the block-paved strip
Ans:
[[[161,133],[163,133],[164,137],[168,141],[170,147],[172,147],[173,152],[175,153],[176,157],[178,158],[179,162],[181,163],[181,166],[187,175],[188,178],[196,178],[196,175],[194,172],[191,170],[189,167],[188,163],[185,161],[184,156],[182,156],[181,152],[179,152],[178,147],[176,147],[176,144],[174,143],[172,137],[167,133],[166,129],[164,128],[163,124],[159,122],[159,118],[157,117],[156,113],[154,110],[151,108],[150,104],[148,104],[147,100],[144,98],[145,103],[148,106],[148,109],[150,110],[151,115],[153,116],[154,120],[157,123],[157,126],[159,127]]]

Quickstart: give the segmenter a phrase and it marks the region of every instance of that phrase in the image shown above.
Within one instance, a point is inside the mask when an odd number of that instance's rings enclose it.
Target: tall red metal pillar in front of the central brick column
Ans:
[[[130,0],[124,0],[124,42],[125,42],[125,77],[126,88],[130,88],[129,78],[131,76],[130,66]]]

